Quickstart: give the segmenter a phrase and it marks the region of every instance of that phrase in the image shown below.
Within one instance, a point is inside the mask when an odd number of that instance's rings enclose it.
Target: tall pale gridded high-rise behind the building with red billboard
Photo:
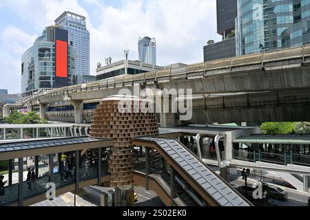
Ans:
[[[63,12],[55,25],[68,30],[69,42],[72,42],[75,51],[76,76],[90,74],[90,32],[86,28],[85,17],[72,12]]]

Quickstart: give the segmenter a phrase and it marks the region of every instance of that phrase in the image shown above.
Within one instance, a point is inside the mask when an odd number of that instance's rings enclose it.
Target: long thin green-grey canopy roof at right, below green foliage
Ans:
[[[289,135],[249,135],[238,137],[234,143],[259,143],[259,144],[310,144],[310,134]]]

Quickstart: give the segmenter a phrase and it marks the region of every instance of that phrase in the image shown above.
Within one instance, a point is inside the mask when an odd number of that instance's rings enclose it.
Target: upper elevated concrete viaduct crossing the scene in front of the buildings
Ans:
[[[101,99],[106,96],[112,96],[118,94],[119,90],[123,88],[133,91],[135,84],[138,84],[140,89],[192,89],[193,94],[261,91],[275,91],[276,93],[285,91],[289,94],[290,90],[310,89],[309,64],[310,46],[305,45],[274,52],[264,52],[220,61],[198,63],[178,69],[165,69],[159,72],[124,75],[123,77],[108,78],[92,83],[52,89],[43,94],[32,96],[30,99],[23,100],[23,105],[31,107],[40,104],[43,108],[41,111],[43,115],[44,104],[68,100],[74,106],[75,122],[80,123],[83,118],[81,103],[84,100]],[[242,99],[241,96],[239,98]],[[227,100],[225,100],[225,102],[226,101]],[[211,102],[216,102],[216,100],[211,100]],[[241,107],[243,110],[238,111],[238,105],[235,104],[236,110],[225,110],[227,109],[227,104],[225,104],[225,108],[222,107],[223,111],[214,111],[214,113],[212,113],[211,110],[207,110],[207,115],[203,115],[203,117],[205,117],[204,120],[213,120],[213,118],[216,118],[213,122],[220,122],[220,120],[217,120],[220,118],[223,120],[225,119],[225,121],[228,120],[229,122],[238,121],[239,118],[240,120],[243,120],[242,118],[249,118],[251,119],[250,121],[260,121],[265,118],[268,120],[286,120],[284,117],[285,111],[292,111],[292,115],[298,115],[297,113],[300,111],[307,111],[307,109],[309,109],[307,106],[306,103],[302,102],[300,103],[300,107],[292,107],[293,109],[280,107],[282,110],[277,110],[277,105],[272,107],[272,105],[269,104],[269,110],[267,110],[268,108],[264,109],[262,104],[260,108],[254,105],[251,106],[250,104],[247,105],[247,109],[245,109],[244,104],[242,104]],[[249,110],[249,107],[253,108]],[[254,107],[256,109],[254,109]],[[258,109],[261,110],[258,111]],[[273,111],[273,109],[275,111]],[[203,113],[202,110],[196,109],[195,111],[197,114]],[[273,111],[273,113],[271,113],[271,111]],[[283,115],[277,116],[279,113],[281,114],[281,112],[283,112]],[[258,114],[258,116],[254,116],[255,114]],[[267,114],[269,114],[268,117],[261,116]],[[223,117],[223,115],[226,115],[226,118]],[[242,117],[239,115],[242,115]],[[163,117],[163,119],[164,118],[165,117]],[[230,118],[232,120],[230,120]],[[304,117],[296,116],[296,118]],[[194,117],[193,121],[195,120]]]

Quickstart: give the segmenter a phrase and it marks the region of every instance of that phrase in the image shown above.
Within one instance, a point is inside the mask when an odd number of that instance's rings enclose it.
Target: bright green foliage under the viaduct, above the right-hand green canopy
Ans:
[[[263,134],[276,135],[294,133],[297,122],[265,122],[262,123],[260,129]]]

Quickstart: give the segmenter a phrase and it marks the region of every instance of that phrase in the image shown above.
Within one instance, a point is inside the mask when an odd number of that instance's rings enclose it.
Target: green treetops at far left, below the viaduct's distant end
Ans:
[[[47,120],[41,120],[36,111],[29,111],[27,114],[22,114],[14,111],[3,120],[8,124],[46,124]]]

